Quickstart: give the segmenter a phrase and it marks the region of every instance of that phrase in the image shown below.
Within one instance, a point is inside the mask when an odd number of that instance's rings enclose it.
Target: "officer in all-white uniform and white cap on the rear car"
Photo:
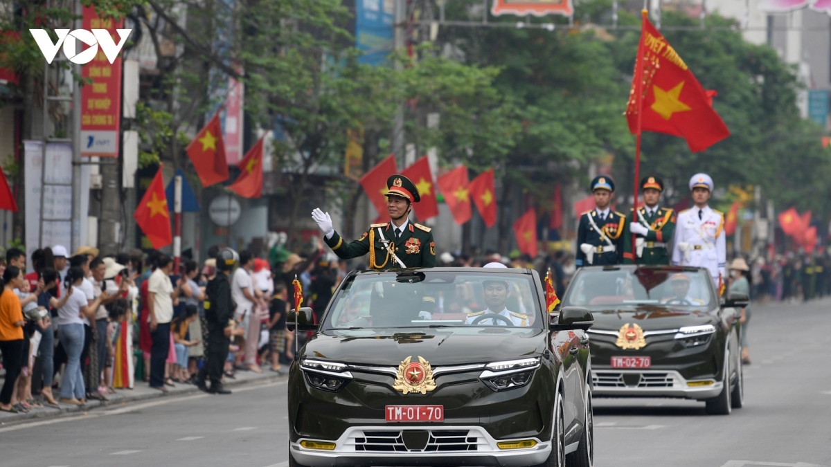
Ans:
[[[725,278],[725,217],[707,205],[713,191],[710,175],[693,175],[690,189],[696,206],[678,213],[672,264],[707,268],[718,284],[719,277]]]

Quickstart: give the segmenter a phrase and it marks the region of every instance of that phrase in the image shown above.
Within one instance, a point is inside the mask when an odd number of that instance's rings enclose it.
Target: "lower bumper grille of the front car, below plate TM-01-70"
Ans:
[[[352,435],[356,451],[363,452],[450,452],[477,450],[479,437],[469,430],[429,430],[423,450],[407,449],[403,430],[367,430]],[[347,443],[351,444],[351,443]]]

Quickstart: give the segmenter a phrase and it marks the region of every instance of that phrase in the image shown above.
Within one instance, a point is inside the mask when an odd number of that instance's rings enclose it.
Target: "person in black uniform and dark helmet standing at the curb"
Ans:
[[[205,321],[208,324],[207,336],[203,336],[207,346],[204,352],[204,364],[199,370],[196,384],[202,391],[213,394],[230,394],[222,386],[222,370],[228,358],[231,332],[234,329],[234,300],[231,299],[231,282],[229,273],[234,269],[238,256],[231,248],[223,248],[216,255],[216,277],[205,288],[207,299],[204,302]],[[210,380],[210,387],[206,380]]]

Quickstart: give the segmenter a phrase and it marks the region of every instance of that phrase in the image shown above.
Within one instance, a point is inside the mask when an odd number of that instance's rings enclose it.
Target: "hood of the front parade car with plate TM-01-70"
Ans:
[[[303,356],[356,365],[398,366],[406,357],[431,365],[462,365],[540,355],[543,329],[359,329],[317,332]]]

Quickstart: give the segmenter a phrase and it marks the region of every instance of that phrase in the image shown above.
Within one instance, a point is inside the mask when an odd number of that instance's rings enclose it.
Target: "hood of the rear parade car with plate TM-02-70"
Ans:
[[[591,307],[590,307],[591,308]],[[593,330],[617,331],[624,324],[637,324],[644,331],[677,329],[684,326],[715,324],[718,309],[690,310],[684,307],[638,305],[593,309]]]

